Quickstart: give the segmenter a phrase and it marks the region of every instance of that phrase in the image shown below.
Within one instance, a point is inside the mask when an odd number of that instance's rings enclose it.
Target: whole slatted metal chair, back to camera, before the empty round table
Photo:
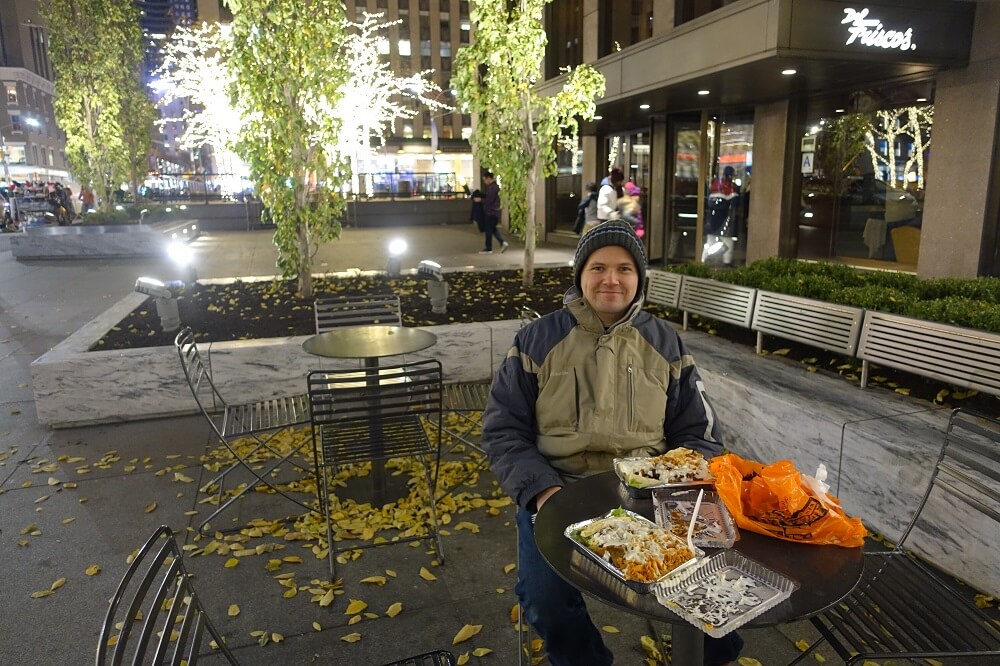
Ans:
[[[418,458],[423,463],[430,510],[429,533],[434,537],[438,559],[443,562],[430,464],[430,456],[441,447],[441,362],[430,359],[382,366],[377,372],[366,370],[361,381],[356,370],[320,370],[310,372],[307,383],[316,492],[326,520],[331,578],[336,573],[337,553],[382,545],[341,548],[334,541],[326,471],[335,472],[337,467],[349,463],[373,463],[376,494],[380,492],[379,480],[384,477],[381,477],[383,470],[375,463],[401,457]],[[429,428],[437,432],[436,446],[431,443],[425,421],[430,421]],[[399,537],[389,543],[426,537]]]

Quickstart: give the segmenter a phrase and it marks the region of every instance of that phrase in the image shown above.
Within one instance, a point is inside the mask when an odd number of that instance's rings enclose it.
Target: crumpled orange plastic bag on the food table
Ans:
[[[708,466],[716,492],[743,529],[799,543],[850,548],[864,543],[861,519],[846,515],[836,497],[790,460],[762,465],[730,453]]]

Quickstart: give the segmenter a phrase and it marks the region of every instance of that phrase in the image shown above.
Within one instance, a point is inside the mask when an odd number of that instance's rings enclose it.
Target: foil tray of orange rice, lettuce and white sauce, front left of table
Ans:
[[[705,556],[705,551],[697,546],[692,556],[685,539],[678,539],[653,521],[621,508],[609,511],[598,518],[573,523],[566,527],[563,534],[583,555],[597,562],[629,589],[643,594],[649,593],[657,583],[695,566]],[[610,552],[605,557],[592,550],[591,546],[600,547],[601,542],[608,537],[611,537],[612,544],[625,541],[632,546],[633,552],[638,550],[640,553],[649,554],[651,557],[648,559],[648,564],[633,562],[633,566],[641,568],[641,571],[629,572],[614,564]],[[662,546],[659,548],[660,552],[669,556],[656,557],[658,546]]]

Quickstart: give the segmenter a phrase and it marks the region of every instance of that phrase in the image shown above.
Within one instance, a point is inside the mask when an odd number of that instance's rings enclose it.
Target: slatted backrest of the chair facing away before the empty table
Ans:
[[[324,464],[427,452],[420,418],[436,421],[440,444],[442,373],[436,359],[307,376],[313,437]]]

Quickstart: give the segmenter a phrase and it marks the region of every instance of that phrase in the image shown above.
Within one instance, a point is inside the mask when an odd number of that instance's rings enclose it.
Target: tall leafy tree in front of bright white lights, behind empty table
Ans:
[[[336,150],[336,108],[350,77],[344,4],[333,0],[228,0],[233,105],[243,113],[236,152],[277,227],[278,266],[312,298],[317,249],[340,237],[350,178]]]

